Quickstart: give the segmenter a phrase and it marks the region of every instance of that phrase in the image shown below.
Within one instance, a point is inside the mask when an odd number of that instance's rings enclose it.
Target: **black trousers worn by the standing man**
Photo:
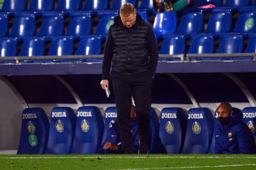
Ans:
[[[127,74],[111,71],[110,78],[117,109],[119,133],[125,153],[133,153],[134,140],[131,133],[131,96],[134,97],[139,119],[140,142],[147,142],[150,127],[152,77],[148,71]]]

